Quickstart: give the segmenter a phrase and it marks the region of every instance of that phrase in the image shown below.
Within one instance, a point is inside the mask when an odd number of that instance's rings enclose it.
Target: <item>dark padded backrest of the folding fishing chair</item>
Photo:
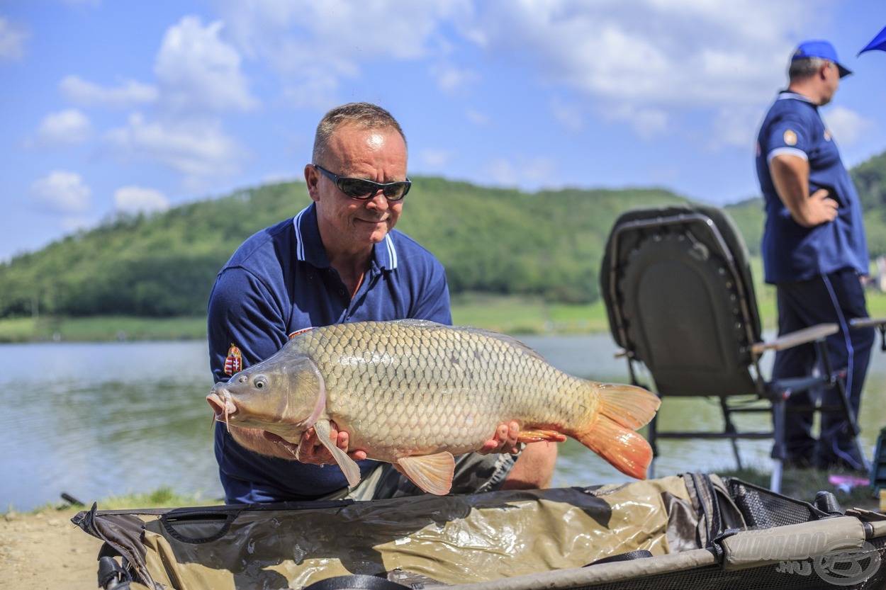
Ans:
[[[725,211],[622,214],[600,275],[612,336],[649,369],[659,395],[759,391],[750,352],[760,340],[757,299],[747,249]]]

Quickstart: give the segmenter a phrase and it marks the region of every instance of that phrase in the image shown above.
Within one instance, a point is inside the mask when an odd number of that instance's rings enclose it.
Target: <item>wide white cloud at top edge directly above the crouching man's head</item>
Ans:
[[[267,63],[295,106],[329,108],[340,81],[357,79],[364,64],[410,61],[450,49],[439,27],[470,12],[470,0],[215,0],[232,43],[249,58]],[[467,80],[466,72],[438,70],[444,87]],[[319,89],[323,97],[304,89]]]

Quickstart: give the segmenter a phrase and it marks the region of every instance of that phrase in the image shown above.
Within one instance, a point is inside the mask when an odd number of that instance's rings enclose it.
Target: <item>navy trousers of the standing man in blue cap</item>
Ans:
[[[846,394],[855,415],[859,415],[861,389],[865,384],[867,365],[871,358],[875,332],[873,328],[850,329],[855,317],[867,317],[865,291],[854,270],[843,270],[808,281],[779,283],[779,335],[801,330],[818,323],[836,323],[840,331],[828,337],[828,356],[835,370],[846,369]],[[773,379],[809,375],[819,361],[815,346],[799,345],[775,354]],[[818,392],[795,393],[788,406],[808,406]],[[820,392],[823,404],[839,403],[836,388]],[[843,416],[822,412],[820,435],[812,437],[812,412],[788,412],[786,439],[788,461],[809,463],[827,469],[842,466],[854,470],[864,468],[851,429]]]

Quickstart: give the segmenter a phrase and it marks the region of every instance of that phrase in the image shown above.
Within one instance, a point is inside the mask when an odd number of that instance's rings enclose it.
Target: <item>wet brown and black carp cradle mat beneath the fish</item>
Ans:
[[[93,507],[74,523],[105,541],[99,557],[116,557],[107,587],[886,587],[886,516],[698,474],[366,502]]]

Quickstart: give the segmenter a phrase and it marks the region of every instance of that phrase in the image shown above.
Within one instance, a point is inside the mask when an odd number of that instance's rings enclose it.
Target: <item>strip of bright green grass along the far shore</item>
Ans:
[[[764,328],[775,322],[774,291],[758,286]],[[872,317],[886,317],[886,293],[869,291]],[[548,304],[540,299],[470,295],[453,299],[453,322],[506,334],[569,334],[609,330],[602,301],[588,305]],[[139,318],[18,318],[0,320],[0,342],[97,342],[125,340],[202,340],[205,317]]]

